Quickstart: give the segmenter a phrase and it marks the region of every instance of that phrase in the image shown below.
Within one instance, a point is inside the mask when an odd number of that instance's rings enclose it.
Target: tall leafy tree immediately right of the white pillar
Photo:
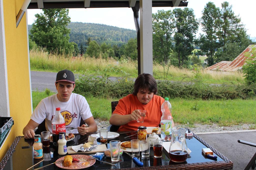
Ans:
[[[172,22],[173,13],[171,10],[158,10],[156,14],[152,14],[153,20],[153,59],[162,61],[165,64],[172,50],[172,33],[174,24]]]

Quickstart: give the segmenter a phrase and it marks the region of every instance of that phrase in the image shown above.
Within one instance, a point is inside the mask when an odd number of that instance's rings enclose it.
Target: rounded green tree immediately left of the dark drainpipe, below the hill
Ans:
[[[133,60],[138,59],[137,39],[131,38],[128,40],[127,44],[124,46],[124,55],[130,57]]]

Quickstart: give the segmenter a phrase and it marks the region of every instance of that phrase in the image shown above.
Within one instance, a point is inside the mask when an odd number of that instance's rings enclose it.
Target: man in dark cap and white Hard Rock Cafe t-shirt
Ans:
[[[88,132],[96,132],[97,125],[86,99],[79,94],[72,93],[76,86],[72,71],[59,71],[56,76],[55,86],[58,93],[42,99],[33,111],[28,124],[23,129],[25,139],[34,138],[34,129],[44,120],[46,130],[52,132],[51,121],[58,107],[66,121],[66,128],[79,127],[81,117],[89,126],[85,127],[86,125],[83,124],[78,129],[66,131],[66,133],[85,135]]]

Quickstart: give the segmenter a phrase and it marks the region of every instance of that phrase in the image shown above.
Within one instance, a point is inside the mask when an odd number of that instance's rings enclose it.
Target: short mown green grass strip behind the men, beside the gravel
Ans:
[[[50,93],[52,95],[54,93]],[[45,92],[33,91],[33,110],[43,98],[47,97]],[[109,120],[111,116],[111,101],[118,99],[103,99],[86,97],[94,119]],[[256,124],[255,100],[170,100],[173,111],[174,122],[187,124],[194,123],[212,124],[222,126],[238,125],[240,123]],[[251,128],[254,129],[254,126]]]

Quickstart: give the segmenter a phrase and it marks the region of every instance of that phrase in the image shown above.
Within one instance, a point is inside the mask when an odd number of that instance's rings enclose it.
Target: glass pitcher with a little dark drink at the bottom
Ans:
[[[184,162],[188,158],[188,148],[185,138],[186,129],[173,127],[169,156],[173,162]]]

